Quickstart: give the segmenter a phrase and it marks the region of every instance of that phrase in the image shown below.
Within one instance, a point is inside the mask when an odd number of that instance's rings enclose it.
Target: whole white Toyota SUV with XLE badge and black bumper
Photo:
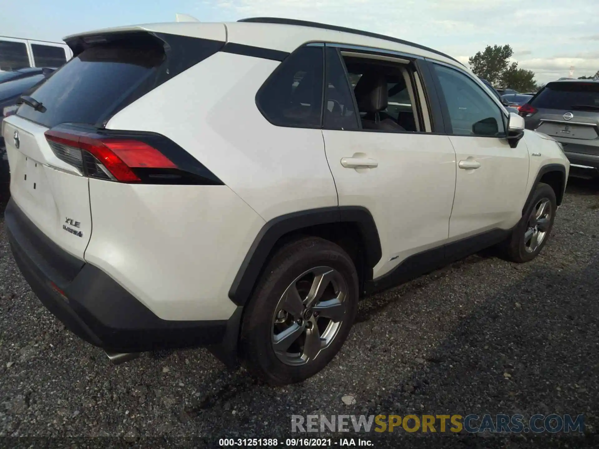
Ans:
[[[208,346],[273,384],[322,369],[360,296],[546,243],[568,161],[443,53],[319,23],[65,39],[4,120],[14,257],[115,360]]]

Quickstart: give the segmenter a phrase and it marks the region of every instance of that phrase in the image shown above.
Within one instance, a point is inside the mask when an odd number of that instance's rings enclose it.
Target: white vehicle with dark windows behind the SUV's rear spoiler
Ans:
[[[58,68],[71,57],[65,43],[0,36],[0,73],[26,67]]]

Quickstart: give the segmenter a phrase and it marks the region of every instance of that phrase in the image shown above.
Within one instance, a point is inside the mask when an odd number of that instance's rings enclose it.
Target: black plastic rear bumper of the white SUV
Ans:
[[[162,320],[103,271],[58,247],[12,199],[5,210],[5,227],[31,289],[85,341],[121,353],[206,345],[235,350],[241,308],[229,320]]]

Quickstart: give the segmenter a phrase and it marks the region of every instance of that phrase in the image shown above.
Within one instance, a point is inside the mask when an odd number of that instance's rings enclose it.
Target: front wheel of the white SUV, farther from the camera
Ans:
[[[541,204],[544,204],[544,209],[539,216]],[[547,212],[547,210],[549,211]],[[530,262],[537,257],[549,239],[556,210],[557,202],[553,189],[548,184],[537,184],[533,196],[526,205],[522,219],[503,244],[504,256],[508,260],[518,263]],[[537,230],[540,232],[537,233]],[[537,238],[536,241],[534,238]],[[539,238],[541,239],[540,243]]]

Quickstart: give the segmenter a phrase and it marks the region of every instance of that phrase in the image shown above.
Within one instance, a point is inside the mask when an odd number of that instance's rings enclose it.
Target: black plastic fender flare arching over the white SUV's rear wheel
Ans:
[[[382,257],[379,232],[370,211],[360,206],[323,207],[276,217],[262,226],[229,289],[229,299],[244,305],[250,298],[264,264],[279,239],[305,227],[329,223],[355,223],[364,241],[364,261],[373,268]]]

